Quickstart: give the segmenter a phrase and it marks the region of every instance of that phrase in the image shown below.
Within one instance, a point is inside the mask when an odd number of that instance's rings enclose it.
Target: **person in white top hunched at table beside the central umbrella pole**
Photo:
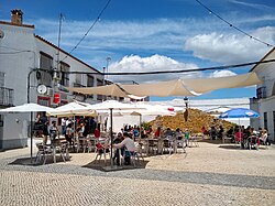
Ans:
[[[135,152],[134,141],[130,138],[128,132],[123,133],[123,141],[117,144],[113,144],[113,148],[121,149],[121,154],[124,156],[124,162],[127,165],[130,164],[130,153]],[[125,152],[127,150],[127,152]],[[117,164],[120,164],[119,150],[116,151],[113,161],[117,159]]]

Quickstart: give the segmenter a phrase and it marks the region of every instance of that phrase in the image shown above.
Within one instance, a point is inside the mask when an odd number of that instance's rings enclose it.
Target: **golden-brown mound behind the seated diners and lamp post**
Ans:
[[[187,121],[185,121],[184,113],[178,112],[174,117],[157,117],[155,120],[151,121],[150,124],[154,130],[157,127],[162,127],[163,129],[170,128],[172,130],[176,130],[177,128],[179,128],[182,130],[189,129],[194,133],[200,133],[202,127],[208,130],[213,124],[217,129],[219,126],[222,126],[226,130],[230,129],[230,127],[235,126],[232,122],[217,119],[213,116],[210,116],[209,113],[204,112],[199,109],[188,109]]]

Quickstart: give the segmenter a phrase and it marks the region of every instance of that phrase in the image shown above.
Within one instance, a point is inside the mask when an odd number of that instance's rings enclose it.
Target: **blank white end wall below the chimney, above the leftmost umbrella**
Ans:
[[[26,79],[35,66],[33,29],[0,23],[4,37],[0,40],[0,71],[6,74],[6,87],[14,88],[14,105],[26,102]]]

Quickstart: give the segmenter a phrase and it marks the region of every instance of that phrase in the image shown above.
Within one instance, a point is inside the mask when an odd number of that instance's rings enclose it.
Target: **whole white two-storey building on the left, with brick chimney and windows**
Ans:
[[[12,10],[11,22],[0,21],[0,108],[25,102],[57,107],[73,98],[102,100],[100,95],[72,94],[64,88],[101,86],[105,77],[35,35],[34,25],[23,24],[22,15],[21,10]],[[29,127],[30,113],[0,113],[0,150],[26,147]]]

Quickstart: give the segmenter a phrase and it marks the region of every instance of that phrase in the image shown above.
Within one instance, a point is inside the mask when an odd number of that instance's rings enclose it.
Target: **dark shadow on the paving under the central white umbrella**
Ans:
[[[136,169],[145,169],[146,164],[150,161],[140,161],[139,163],[136,163],[136,165],[134,166],[133,164],[131,165],[121,165],[121,166],[110,166],[110,162],[107,161],[105,162],[105,160],[94,160],[92,162],[89,162],[88,164],[81,166],[81,167],[86,167],[86,169],[92,169],[92,170],[97,170],[97,171],[102,171],[102,172],[113,172],[113,171],[121,171],[121,170],[136,170]]]

